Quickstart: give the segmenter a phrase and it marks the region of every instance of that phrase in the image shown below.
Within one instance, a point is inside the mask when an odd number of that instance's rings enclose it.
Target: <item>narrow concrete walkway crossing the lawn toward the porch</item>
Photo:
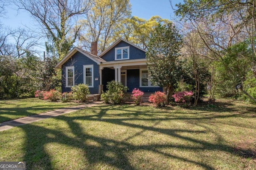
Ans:
[[[92,102],[90,104],[83,104],[83,105],[79,105],[79,106],[66,107],[66,108],[63,108],[63,109],[57,109],[57,110],[49,111],[49,112],[46,112],[46,113],[41,113],[39,115],[33,115],[33,116],[28,116],[28,117],[22,117],[20,119],[6,121],[6,122],[3,122],[3,123],[0,123],[0,131],[11,129],[12,127],[25,125],[25,124],[32,123],[32,122],[35,122],[35,121],[40,121],[40,120],[47,119],[47,118],[50,118],[50,117],[56,117],[58,115],[62,115],[62,114],[65,114],[65,113],[70,113],[72,111],[77,111],[77,110],[83,109],[85,107],[97,106],[98,104],[102,104],[102,103],[103,102]]]

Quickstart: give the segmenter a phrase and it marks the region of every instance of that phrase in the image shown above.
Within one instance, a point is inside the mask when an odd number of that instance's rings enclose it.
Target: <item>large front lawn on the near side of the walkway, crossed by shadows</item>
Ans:
[[[0,132],[0,160],[27,169],[256,169],[256,106],[87,107]]]

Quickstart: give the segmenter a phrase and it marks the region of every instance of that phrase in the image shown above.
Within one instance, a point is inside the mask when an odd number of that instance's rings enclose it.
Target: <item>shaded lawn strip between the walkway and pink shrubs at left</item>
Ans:
[[[47,102],[38,98],[0,100],[0,123],[74,105],[78,103]]]

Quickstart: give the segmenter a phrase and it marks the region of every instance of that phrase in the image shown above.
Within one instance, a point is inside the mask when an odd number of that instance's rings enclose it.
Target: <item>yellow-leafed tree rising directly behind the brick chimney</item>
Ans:
[[[129,0],[93,0],[93,6],[86,14],[86,19],[80,20],[80,46],[90,48],[93,41],[98,42],[99,50],[115,41],[113,35],[125,18],[130,16]]]

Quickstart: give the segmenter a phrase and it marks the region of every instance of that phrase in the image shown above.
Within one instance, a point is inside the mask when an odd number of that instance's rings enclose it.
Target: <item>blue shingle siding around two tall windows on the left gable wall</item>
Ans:
[[[84,83],[84,65],[92,64],[94,68],[94,87],[89,88],[89,90],[90,94],[98,94],[100,81],[99,66],[97,63],[95,63],[80,52],[76,52],[68,61],[66,61],[66,63],[62,65],[62,93],[70,92],[71,90],[70,87],[66,87],[66,66],[74,66],[75,84],[82,84]],[[98,78],[98,80],[95,80],[95,78]]]

